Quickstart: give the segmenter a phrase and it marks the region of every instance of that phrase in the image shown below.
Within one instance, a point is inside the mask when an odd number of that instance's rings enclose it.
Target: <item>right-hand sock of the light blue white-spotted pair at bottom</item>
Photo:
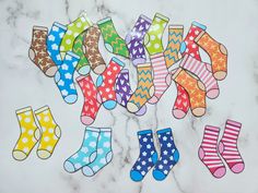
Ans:
[[[99,137],[97,141],[96,158],[93,162],[82,168],[82,173],[86,177],[96,174],[101,169],[107,166],[113,158],[112,152],[112,129],[99,129]]]

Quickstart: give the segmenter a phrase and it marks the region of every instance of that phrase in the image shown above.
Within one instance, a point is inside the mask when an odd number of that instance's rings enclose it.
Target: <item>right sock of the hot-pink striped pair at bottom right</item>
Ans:
[[[227,119],[225,131],[219,145],[221,156],[234,173],[239,173],[245,168],[244,160],[237,148],[242,123]]]

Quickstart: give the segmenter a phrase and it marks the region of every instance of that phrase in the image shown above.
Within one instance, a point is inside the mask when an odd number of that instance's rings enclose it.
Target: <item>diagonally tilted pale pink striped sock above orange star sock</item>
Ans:
[[[216,98],[220,94],[219,85],[212,74],[211,64],[201,62],[189,55],[185,55],[180,62],[180,67],[190,71],[204,84],[207,96]]]

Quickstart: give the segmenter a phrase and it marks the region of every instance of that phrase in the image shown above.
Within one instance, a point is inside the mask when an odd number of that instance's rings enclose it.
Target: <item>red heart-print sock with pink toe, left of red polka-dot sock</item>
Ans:
[[[101,104],[97,101],[98,91],[92,80],[91,74],[77,79],[84,96],[84,104],[81,112],[81,121],[85,125],[92,124],[97,116]]]

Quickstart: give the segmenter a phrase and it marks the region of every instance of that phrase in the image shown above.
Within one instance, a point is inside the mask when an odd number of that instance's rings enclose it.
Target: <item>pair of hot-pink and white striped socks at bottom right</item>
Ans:
[[[213,177],[219,179],[226,173],[222,158],[234,173],[239,173],[245,169],[237,148],[242,123],[227,119],[223,136],[219,142],[220,128],[206,125],[198,155]]]

